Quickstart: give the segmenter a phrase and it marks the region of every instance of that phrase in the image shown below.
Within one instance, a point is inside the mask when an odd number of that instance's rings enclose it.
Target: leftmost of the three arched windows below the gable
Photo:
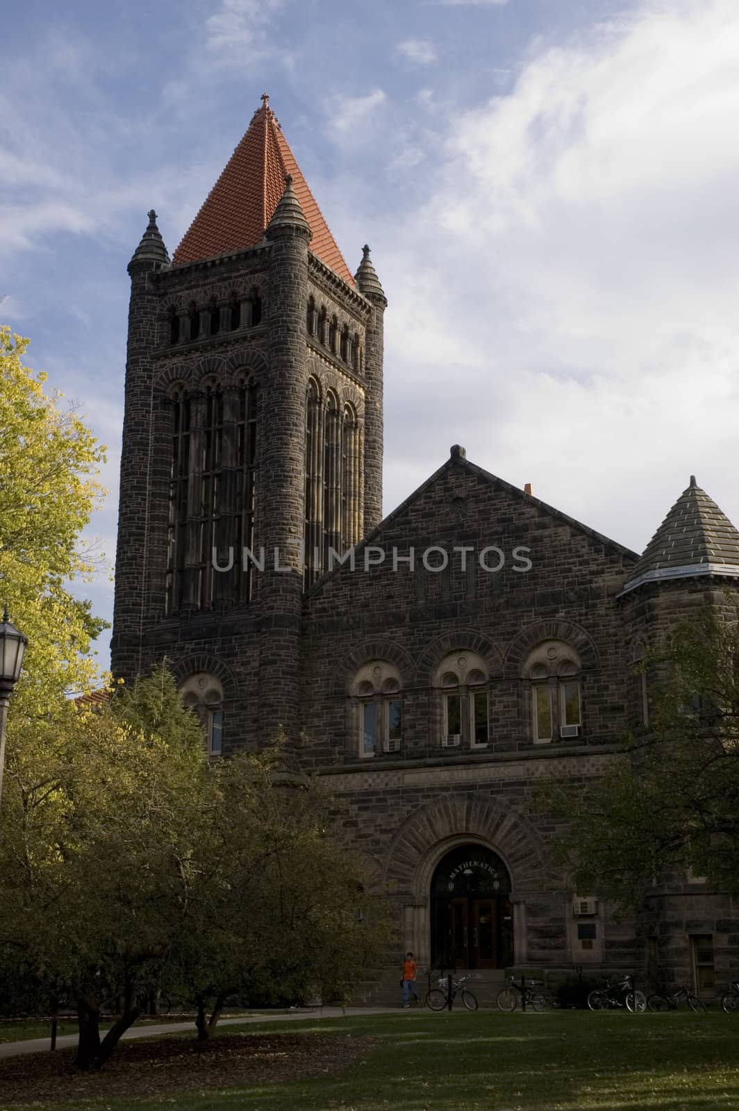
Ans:
[[[387,660],[371,660],[354,675],[351,694],[357,707],[356,735],[360,758],[400,750],[401,688],[400,672]]]

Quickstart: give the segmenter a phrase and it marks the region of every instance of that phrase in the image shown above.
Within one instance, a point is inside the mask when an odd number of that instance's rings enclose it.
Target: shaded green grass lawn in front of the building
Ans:
[[[286,1025],[281,1027],[286,1030]],[[739,1108],[739,1015],[399,1012],[289,1024],[371,1034],[340,1073],[156,1099],[34,1104],[36,1111],[715,1111]],[[274,1031],[276,1024],[230,1027]],[[286,1031],[287,1032],[287,1031]],[[1,1102],[0,1108],[7,1104]]]

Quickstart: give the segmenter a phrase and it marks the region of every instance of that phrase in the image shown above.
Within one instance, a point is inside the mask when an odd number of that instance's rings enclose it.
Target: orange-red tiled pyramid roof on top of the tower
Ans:
[[[249,130],[174,251],[174,266],[261,243],[284,191],[287,174],[292,177],[292,187],[310,226],[311,251],[353,286],[351,271],[269,107],[267,93],[262,96],[262,107],[251,118]]]

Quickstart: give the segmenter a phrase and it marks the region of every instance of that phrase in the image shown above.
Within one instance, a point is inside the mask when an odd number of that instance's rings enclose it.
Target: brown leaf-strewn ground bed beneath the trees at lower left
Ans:
[[[367,1037],[293,1033],[123,1042],[94,1073],[74,1070],[73,1050],[29,1053],[0,1061],[0,1101],[11,1108],[302,1080],[346,1068],[373,1042]]]

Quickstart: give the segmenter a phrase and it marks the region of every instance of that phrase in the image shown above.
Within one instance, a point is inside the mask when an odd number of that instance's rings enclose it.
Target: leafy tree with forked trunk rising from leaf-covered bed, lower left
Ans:
[[[100,1068],[141,1013],[187,912],[212,781],[200,723],[162,668],[101,712],[61,704],[9,747],[0,953],[73,998],[77,1065]],[[103,1039],[100,1012],[120,999]]]

